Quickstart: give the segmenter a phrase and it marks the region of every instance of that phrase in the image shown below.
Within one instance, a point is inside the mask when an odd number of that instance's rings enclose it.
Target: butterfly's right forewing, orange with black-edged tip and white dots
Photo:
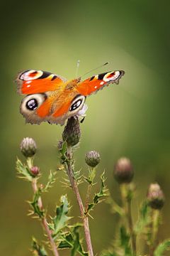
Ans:
[[[111,71],[94,75],[77,84],[77,91],[84,96],[91,95],[110,83],[118,84],[120,78],[125,74],[123,70]]]

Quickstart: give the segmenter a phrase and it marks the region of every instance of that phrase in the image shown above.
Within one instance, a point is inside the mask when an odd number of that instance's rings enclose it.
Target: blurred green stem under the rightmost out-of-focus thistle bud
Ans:
[[[157,246],[156,238],[159,228],[159,210],[152,210],[152,239],[150,245],[150,256],[154,255],[154,248]]]

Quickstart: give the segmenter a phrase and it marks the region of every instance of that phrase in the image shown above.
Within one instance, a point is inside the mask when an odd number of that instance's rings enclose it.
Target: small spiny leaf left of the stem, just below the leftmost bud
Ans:
[[[16,171],[19,178],[23,178],[26,181],[33,181],[33,176],[30,174],[28,166],[23,164],[20,159],[16,160]]]

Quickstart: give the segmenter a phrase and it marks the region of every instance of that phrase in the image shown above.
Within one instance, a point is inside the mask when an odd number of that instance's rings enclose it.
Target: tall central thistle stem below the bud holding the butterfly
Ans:
[[[93,248],[91,245],[91,235],[90,235],[90,230],[89,230],[89,218],[88,218],[88,216],[84,215],[84,205],[81,200],[77,181],[74,178],[74,170],[72,168],[72,147],[71,146],[67,146],[67,157],[68,157],[68,159],[66,161],[67,175],[69,176],[69,181],[72,185],[72,189],[77,197],[77,202],[79,204],[81,218],[83,219],[83,223],[84,223],[84,233],[85,233],[85,238],[86,238],[87,249],[89,252],[89,256],[94,256]]]

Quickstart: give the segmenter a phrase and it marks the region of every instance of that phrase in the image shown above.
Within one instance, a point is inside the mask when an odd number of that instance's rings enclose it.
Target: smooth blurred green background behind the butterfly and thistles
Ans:
[[[111,85],[87,98],[86,119],[81,124],[81,144],[76,152],[77,169],[86,174],[84,154],[96,149],[101,154],[98,175],[106,169],[107,186],[119,198],[113,180],[113,164],[128,156],[135,168],[136,208],[145,198],[152,181],[162,186],[166,204],[159,232],[170,236],[170,87],[169,87],[169,1],[1,1],[1,255],[31,255],[31,236],[41,239],[40,223],[29,218],[26,200],[32,196],[30,184],[16,178],[19,144],[33,137],[38,144],[35,163],[45,181],[48,171],[59,164],[57,142],[63,127],[55,124],[25,124],[19,113],[21,96],[13,78],[20,70],[47,70],[74,78],[107,61],[97,70],[125,70],[120,85]],[[94,75],[94,73],[90,73]],[[62,188],[62,172],[45,195],[45,205],[53,214],[62,193],[74,203],[72,215],[79,215],[72,191]],[[81,193],[86,187],[81,186]],[[117,217],[106,204],[96,207],[90,220],[94,251],[111,244]],[[74,218],[76,221],[77,218]],[[61,255],[67,255],[62,252]]]

